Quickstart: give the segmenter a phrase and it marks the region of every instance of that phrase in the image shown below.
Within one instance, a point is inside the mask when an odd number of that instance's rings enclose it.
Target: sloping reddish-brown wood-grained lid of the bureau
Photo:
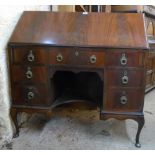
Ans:
[[[9,44],[148,48],[144,15],[25,11]]]

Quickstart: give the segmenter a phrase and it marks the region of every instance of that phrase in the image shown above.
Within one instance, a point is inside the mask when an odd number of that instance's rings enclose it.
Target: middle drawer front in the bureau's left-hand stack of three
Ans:
[[[14,65],[11,76],[13,82],[47,83],[47,68]]]

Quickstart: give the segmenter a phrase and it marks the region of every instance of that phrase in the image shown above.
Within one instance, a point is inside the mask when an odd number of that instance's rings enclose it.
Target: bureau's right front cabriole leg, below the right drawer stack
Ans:
[[[136,143],[135,143],[135,146],[138,147],[138,148],[140,148],[141,147],[141,144],[139,142],[139,137],[140,137],[141,130],[142,130],[142,128],[144,126],[144,123],[145,123],[144,116],[137,118],[136,121],[138,123],[138,130],[137,130],[137,134],[136,134]]]

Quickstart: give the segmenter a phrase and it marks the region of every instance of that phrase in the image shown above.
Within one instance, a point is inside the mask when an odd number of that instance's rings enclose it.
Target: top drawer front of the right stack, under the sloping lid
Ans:
[[[130,50],[107,50],[106,66],[143,66],[143,52]]]

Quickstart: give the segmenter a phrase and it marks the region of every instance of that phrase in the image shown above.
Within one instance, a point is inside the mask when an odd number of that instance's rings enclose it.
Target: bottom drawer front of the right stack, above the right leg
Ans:
[[[105,111],[138,112],[143,108],[143,89],[108,89]]]

